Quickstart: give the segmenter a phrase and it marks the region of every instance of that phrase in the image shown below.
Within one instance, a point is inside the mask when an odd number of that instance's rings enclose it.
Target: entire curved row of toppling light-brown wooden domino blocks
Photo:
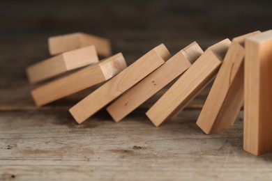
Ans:
[[[215,78],[197,125],[206,134],[219,132],[234,124],[244,102],[244,150],[272,150],[272,30],[225,39],[204,52],[192,42],[174,56],[161,44],[128,67],[121,53],[112,55],[109,40],[86,33],[51,37],[49,49],[52,58],[27,68],[31,83],[77,70],[31,91],[38,107],[106,81],[69,111],[83,123],[106,107],[119,122],[176,80],[146,112],[158,127]]]

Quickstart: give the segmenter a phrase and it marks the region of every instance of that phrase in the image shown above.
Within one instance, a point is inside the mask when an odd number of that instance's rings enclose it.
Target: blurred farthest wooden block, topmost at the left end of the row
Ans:
[[[62,36],[52,36],[48,39],[51,55],[61,54],[70,50],[94,45],[100,56],[110,56],[112,47],[109,40],[86,33],[70,33]]]

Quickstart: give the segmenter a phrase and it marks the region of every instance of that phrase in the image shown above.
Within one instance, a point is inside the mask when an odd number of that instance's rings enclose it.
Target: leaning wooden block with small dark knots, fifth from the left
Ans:
[[[107,111],[112,118],[119,122],[130,112],[139,107],[150,97],[158,93],[163,87],[173,81],[176,77],[185,72],[203,53],[197,42],[193,42],[188,47],[172,56],[160,68],[142,79],[133,88],[115,100]]]

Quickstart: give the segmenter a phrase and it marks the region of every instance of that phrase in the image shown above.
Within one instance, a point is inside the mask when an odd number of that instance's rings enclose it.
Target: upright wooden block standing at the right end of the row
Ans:
[[[272,30],[245,40],[243,149],[272,150]]]

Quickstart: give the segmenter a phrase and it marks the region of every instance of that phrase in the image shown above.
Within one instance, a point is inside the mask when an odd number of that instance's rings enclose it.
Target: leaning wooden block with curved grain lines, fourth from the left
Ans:
[[[85,97],[70,109],[77,123],[92,116],[94,113],[112,102],[116,97],[144,79],[148,74],[156,70],[170,57],[165,45],[159,45],[139,58],[128,68],[110,79],[100,88]]]

